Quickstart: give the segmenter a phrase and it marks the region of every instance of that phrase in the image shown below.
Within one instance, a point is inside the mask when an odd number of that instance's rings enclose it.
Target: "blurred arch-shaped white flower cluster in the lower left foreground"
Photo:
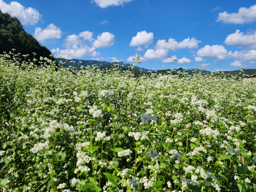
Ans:
[[[61,124],[61,123],[58,123],[57,120],[52,120],[50,123],[49,123],[49,127],[46,127],[45,128],[45,131],[44,131],[44,137],[45,138],[48,138],[51,136],[51,134],[54,134],[55,133],[55,130],[59,128],[61,130],[64,130],[66,132],[69,131],[70,135],[74,135],[76,133],[74,127],[71,125],[69,126],[67,123],[64,123],[64,124]],[[51,133],[51,134],[50,134]]]

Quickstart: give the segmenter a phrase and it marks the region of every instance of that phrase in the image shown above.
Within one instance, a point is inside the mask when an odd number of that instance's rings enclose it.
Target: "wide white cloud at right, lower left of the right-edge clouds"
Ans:
[[[197,56],[223,60],[232,56],[231,51],[227,51],[223,45],[205,45],[205,47],[197,51]]]

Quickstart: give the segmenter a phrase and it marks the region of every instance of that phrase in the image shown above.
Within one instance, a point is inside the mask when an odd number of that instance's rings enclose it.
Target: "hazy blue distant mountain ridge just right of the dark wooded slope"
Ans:
[[[59,64],[60,64],[60,61],[66,62],[66,60],[67,59],[57,58],[57,61],[58,61]],[[75,61],[74,67],[78,67],[78,63],[79,63],[79,61],[81,61],[82,63],[79,64],[79,68],[80,68],[80,66],[87,67],[87,65],[92,66],[94,64],[96,64],[97,66],[100,66],[100,64],[101,64],[101,67],[104,67],[104,66],[107,66],[107,65],[111,65],[110,62],[107,62],[107,61],[97,61],[97,60],[68,59],[68,62],[70,62],[70,61]],[[128,68],[129,66],[132,66],[132,64],[127,64],[127,63],[124,64],[123,62],[115,62],[115,65],[118,65],[118,66],[124,65],[124,68]],[[70,64],[67,64],[67,63],[64,64],[64,67],[69,67],[69,66],[70,66]],[[137,67],[137,66],[135,66],[134,69],[137,69],[137,70],[141,69],[144,72],[154,71],[154,70],[145,69],[145,68]]]

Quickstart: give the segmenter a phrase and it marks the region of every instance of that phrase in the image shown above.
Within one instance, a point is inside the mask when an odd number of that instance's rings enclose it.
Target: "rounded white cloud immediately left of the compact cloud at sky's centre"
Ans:
[[[114,44],[115,35],[109,32],[98,34],[97,40],[93,42],[94,47],[111,47]]]

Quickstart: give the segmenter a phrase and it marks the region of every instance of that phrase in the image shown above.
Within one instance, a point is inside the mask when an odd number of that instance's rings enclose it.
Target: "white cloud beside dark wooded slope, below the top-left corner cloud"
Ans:
[[[59,39],[61,38],[61,35],[62,35],[61,28],[56,27],[55,25],[53,25],[53,23],[51,23],[50,25],[47,25],[47,27],[43,30],[40,27],[36,27],[35,33],[34,33],[34,37],[38,41],[42,41],[42,42],[45,39],[50,39],[50,38]]]

